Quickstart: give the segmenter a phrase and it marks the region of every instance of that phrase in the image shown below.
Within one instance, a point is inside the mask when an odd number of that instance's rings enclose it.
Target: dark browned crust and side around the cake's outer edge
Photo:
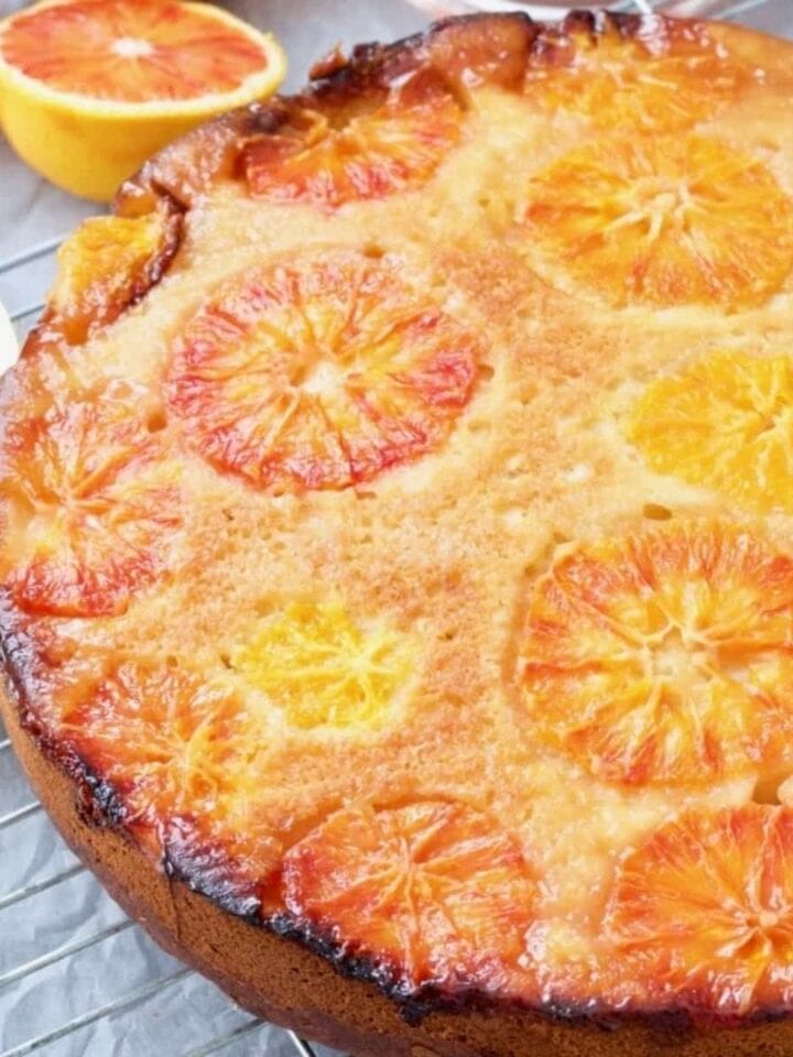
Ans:
[[[394,44],[359,45],[344,62],[336,55],[315,67],[313,83],[302,92],[253,103],[208,122],[148,162],[117,195],[113,211],[118,216],[141,216],[165,204],[170,215],[177,218],[177,233],[169,243],[169,252],[152,269],[148,285],[130,305],[140,301],[166,272],[181,243],[191,206],[218,182],[236,178],[246,143],[276,133],[296,110],[312,108],[343,117],[351,103],[358,106],[361,99],[367,100],[367,106],[377,105],[400,78],[427,66],[444,78],[449,92],[465,106],[466,87],[471,80],[498,67],[502,70],[499,84],[517,85],[533,58],[546,56],[565,37],[584,33],[597,40],[616,33],[629,41],[647,35],[649,28],[662,22],[656,18],[584,10],[572,12],[561,25],[537,23],[521,13],[447,19]],[[484,31],[489,31],[488,43],[492,45],[470,61],[465,46],[459,47],[460,34],[469,30],[479,43]],[[507,40],[509,51],[504,50]],[[448,64],[449,45],[455,45],[455,54],[463,54],[457,68]],[[26,349],[41,339],[47,322],[45,315],[29,337]],[[467,1057],[475,1053],[528,1053],[528,1045],[537,1057],[650,1055],[670,1049],[713,1057],[783,1057],[790,1053],[793,1022],[789,1011],[758,1011],[743,1023],[739,1036],[706,1036],[699,1034],[706,1021],[716,1027],[732,1022],[719,1022],[683,1007],[619,1013],[597,1005],[573,1006],[554,998],[535,1006],[519,1005],[476,989],[450,994],[427,985],[406,993],[388,967],[360,956],[311,922],[298,922],[284,913],[263,916],[260,895],[252,889],[229,885],[225,863],[213,858],[211,851],[203,857],[185,857],[173,841],[166,841],[162,873],[154,875],[150,858],[130,832],[121,795],[40,721],[36,684],[44,662],[8,599],[0,606],[0,656],[9,684],[0,706],[14,747],[66,840],[159,942],[207,973],[252,1012],[361,1054],[415,1050]],[[113,863],[123,867],[117,869]],[[164,913],[163,907],[169,904],[172,913]],[[193,931],[184,927],[188,918],[195,922]],[[240,920],[231,925],[233,918]],[[251,925],[256,927],[250,928]],[[215,945],[218,930],[227,928],[228,942]],[[196,935],[202,933],[205,935]],[[281,1004],[284,989],[270,998],[270,989],[262,982],[267,972],[253,978],[250,966],[235,971],[233,941],[235,937],[241,940],[243,935],[246,951],[254,950],[264,966],[274,959],[285,967],[287,976],[309,974],[304,993],[308,983],[313,987],[316,972],[324,989],[322,1002],[316,1006],[312,1002],[293,1006],[291,1000]],[[373,1031],[351,1016],[355,1002],[348,1001],[338,984],[334,987],[333,972],[355,982],[357,1002],[373,1006]],[[365,984],[374,984],[379,994],[369,987],[363,994],[360,988]],[[474,1025],[470,1031],[466,1021]],[[773,1037],[765,1031],[757,1034],[756,1027],[760,1026],[773,1026]],[[577,1031],[571,1034],[571,1027]]]

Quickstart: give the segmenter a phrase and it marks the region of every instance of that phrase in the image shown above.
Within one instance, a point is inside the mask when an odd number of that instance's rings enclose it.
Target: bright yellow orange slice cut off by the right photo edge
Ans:
[[[793,511],[793,363],[709,357],[650,385],[628,437],[659,473],[752,510]]]

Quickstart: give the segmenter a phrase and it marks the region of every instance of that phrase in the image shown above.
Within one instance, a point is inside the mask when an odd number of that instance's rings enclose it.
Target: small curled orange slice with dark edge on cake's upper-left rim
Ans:
[[[176,252],[177,216],[94,217],[58,250],[51,325],[78,345],[112,323],[162,276]]]

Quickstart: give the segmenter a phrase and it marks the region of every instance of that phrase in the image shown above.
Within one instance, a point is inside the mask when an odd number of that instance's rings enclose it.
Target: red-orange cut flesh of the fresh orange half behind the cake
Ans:
[[[119,102],[229,91],[268,56],[199,6],[172,0],[66,0],[13,19],[0,37],[11,66],[59,91]]]

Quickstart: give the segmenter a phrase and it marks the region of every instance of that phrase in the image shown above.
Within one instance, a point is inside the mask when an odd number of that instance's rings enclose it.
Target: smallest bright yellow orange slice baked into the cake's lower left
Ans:
[[[295,727],[377,728],[411,669],[387,629],[363,631],[338,602],[293,602],[231,655]]]

